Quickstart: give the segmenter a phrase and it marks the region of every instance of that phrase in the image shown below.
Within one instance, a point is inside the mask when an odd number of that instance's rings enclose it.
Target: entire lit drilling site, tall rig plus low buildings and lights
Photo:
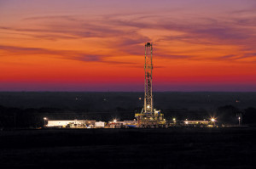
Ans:
[[[225,127],[216,125],[216,119],[210,117],[203,120],[177,120],[172,118],[166,121],[161,110],[154,109],[154,95],[152,84],[153,71],[153,45],[145,43],[144,63],[144,105],[140,113],[135,113],[134,119],[118,121],[96,121],[87,119],[53,120],[44,117],[44,127],[47,128],[163,128],[163,127]],[[242,115],[238,115],[239,126]]]

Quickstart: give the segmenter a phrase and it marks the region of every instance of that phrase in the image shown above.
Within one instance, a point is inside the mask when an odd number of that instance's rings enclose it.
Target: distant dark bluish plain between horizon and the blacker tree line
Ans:
[[[160,110],[215,109],[226,104],[238,108],[256,105],[256,92],[154,92]],[[143,92],[0,92],[0,105],[18,108],[60,108],[111,111],[143,108]],[[141,99],[139,99],[141,98]]]

